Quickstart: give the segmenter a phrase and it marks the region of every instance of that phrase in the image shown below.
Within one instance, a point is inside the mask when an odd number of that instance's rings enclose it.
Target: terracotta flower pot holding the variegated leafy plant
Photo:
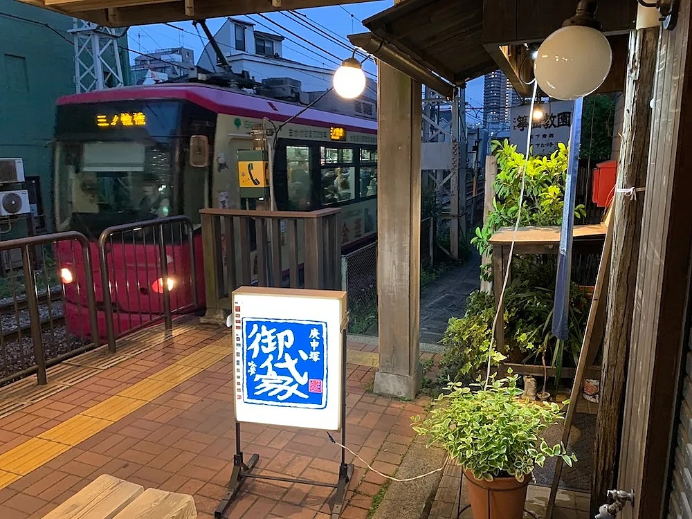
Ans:
[[[473,519],[522,519],[529,477],[518,482],[514,477],[495,477],[493,481],[480,481],[470,471],[468,501],[471,502]]]

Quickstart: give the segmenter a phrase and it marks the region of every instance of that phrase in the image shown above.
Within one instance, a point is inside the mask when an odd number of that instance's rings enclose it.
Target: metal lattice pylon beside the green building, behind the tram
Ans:
[[[111,29],[73,19],[77,93],[124,86],[118,39],[125,29]]]

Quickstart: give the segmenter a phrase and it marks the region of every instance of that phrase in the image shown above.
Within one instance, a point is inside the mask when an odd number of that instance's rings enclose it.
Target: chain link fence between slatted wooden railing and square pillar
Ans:
[[[377,242],[341,256],[341,284],[348,297],[349,332],[377,335]]]

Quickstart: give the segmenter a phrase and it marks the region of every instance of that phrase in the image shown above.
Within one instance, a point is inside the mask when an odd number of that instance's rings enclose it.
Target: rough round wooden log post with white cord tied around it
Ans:
[[[620,151],[616,188],[643,188],[648,168],[651,108],[658,50],[658,28],[630,33],[630,60],[625,91],[627,114]],[[614,488],[620,446],[626,367],[639,258],[644,193],[636,199],[614,197],[610,291],[608,293],[599,414],[594,441],[591,513],[607,500]]]

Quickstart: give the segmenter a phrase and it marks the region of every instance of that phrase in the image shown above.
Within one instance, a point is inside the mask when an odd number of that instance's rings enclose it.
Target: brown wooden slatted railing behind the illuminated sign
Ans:
[[[341,287],[340,210],[203,209],[206,305],[230,310],[239,286]]]

